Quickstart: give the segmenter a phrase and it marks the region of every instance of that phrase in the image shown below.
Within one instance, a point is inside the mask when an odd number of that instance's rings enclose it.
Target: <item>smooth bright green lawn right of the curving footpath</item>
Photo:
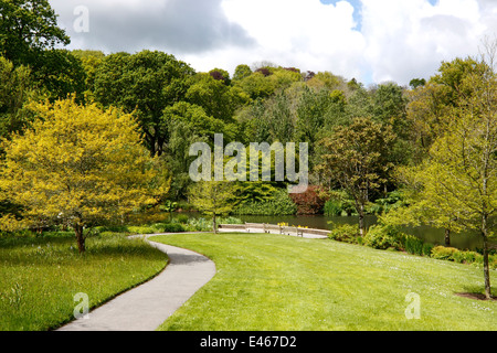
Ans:
[[[215,277],[160,330],[496,330],[497,302],[483,269],[324,239],[261,234],[167,235],[156,242],[201,253]],[[491,271],[494,286],[497,274]],[[408,320],[408,293],[421,318]],[[494,290],[494,293],[496,290]]]

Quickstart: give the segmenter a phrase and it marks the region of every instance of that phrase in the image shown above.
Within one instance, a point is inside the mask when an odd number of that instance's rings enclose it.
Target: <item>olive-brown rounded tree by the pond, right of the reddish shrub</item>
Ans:
[[[359,233],[364,235],[364,207],[372,191],[387,181],[388,151],[394,141],[391,126],[370,118],[356,118],[350,126],[338,126],[320,141],[324,154],[318,171],[348,192],[359,215]]]

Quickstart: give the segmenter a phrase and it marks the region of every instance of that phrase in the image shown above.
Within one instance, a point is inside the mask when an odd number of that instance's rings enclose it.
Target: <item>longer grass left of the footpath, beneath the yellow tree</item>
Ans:
[[[0,331],[45,331],[74,319],[76,293],[98,307],[160,272],[167,256],[123,235],[0,238]]]

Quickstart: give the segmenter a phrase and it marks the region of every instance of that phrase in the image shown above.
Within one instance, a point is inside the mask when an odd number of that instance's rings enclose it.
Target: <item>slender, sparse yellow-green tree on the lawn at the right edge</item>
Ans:
[[[464,228],[477,231],[484,243],[485,295],[490,298],[488,238],[497,213],[497,76],[488,68],[467,82],[477,94],[462,97],[456,119],[430,151],[438,167],[436,180],[457,211]]]

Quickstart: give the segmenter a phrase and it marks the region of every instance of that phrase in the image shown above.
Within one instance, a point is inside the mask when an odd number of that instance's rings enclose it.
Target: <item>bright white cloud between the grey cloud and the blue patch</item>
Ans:
[[[355,9],[347,1],[326,6],[319,0],[224,0],[222,8],[258,44],[240,54],[247,64],[271,61],[360,76],[366,43],[355,30]]]

